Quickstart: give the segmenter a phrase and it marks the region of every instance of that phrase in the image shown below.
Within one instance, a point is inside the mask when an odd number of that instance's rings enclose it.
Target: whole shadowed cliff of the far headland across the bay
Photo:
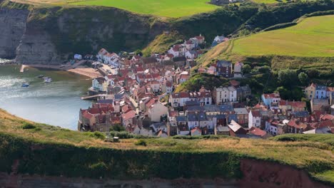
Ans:
[[[33,7],[0,11],[0,57],[18,63],[59,64],[74,53],[135,51],[168,24],[153,16],[103,7]]]

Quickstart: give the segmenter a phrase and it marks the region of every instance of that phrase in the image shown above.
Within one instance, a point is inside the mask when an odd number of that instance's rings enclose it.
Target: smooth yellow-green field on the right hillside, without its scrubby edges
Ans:
[[[334,15],[315,16],[296,26],[239,38],[232,53],[243,56],[334,56]]]

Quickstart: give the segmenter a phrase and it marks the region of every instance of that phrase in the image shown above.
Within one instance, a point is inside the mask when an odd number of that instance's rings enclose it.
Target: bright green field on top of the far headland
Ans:
[[[156,16],[178,18],[213,11],[218,8],[218,6],[207,4],[207,1],[208,0],[95,0],[77,1],[69,4],[113,6],[139,14],[153,14]]]

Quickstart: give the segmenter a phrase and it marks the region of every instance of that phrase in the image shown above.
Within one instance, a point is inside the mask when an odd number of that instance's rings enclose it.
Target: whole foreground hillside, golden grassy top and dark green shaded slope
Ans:
[[[288,164],[304,169],[318,181],[334,183],[333,135],[284,135],[282,138],[275,137],[275,140],[141,138],[121,139],[121,142],[113,143],[103,142],[101,133],[74,132],[27,122],[3,110],[0,110],[0,127],[1,172],[11,172],[14,161],[19,161],[16,173],[49,176],[239,179],[248,176],[242,175],[247,172],[239,165],[246,165],[244,160],[253,159],[275,162],[275,165]],[[210,162],[204,162],[203,157],[209,157]],[[168,165],[161,162],[164,160],[168,160]],[[249,161],[247,165],[250,165]],[[159,173],[161,170],[164,173]],[[287,184],[284,179],[276,181]],[[291,182],[287,186],[291,186]]]

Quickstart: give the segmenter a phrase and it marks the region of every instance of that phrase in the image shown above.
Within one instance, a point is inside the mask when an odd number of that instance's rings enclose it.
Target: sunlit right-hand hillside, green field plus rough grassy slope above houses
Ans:
[[[334,63],[333,23],[333,15],[304,17],[295,26],[236,38],[204,54],[197,68],[217,59],[266,63],[275,70],[328,68]]]

